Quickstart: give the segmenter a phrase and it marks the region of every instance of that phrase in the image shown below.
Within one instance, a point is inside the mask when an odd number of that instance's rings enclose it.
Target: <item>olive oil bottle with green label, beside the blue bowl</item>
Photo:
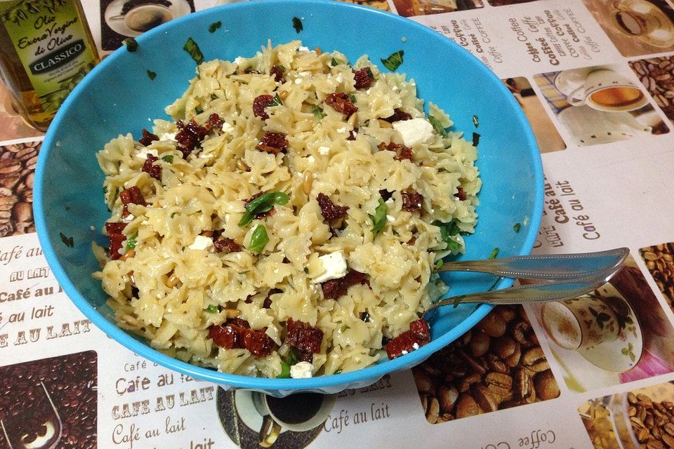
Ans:
[[[0,82],[34,128],[99,60],[79,0],[0,0]]]

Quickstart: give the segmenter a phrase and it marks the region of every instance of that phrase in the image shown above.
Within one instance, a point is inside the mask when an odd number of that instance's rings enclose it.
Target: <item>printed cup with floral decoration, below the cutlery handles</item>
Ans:
[[[541,321],[550,339],[570,351],[616,340],[620,331],[613,309],[592,296],[546,302]]]

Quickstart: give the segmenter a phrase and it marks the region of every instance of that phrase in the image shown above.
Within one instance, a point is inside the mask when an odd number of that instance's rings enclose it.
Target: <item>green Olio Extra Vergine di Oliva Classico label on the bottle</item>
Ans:
[[[70,0],[0,1],[0,21],[45,112],[55,112],[95,65],[86,29]]]

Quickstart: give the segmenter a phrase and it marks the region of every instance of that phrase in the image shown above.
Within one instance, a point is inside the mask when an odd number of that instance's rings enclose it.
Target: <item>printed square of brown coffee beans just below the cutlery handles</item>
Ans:
[[[413,368],[431,424],[560,395],[522,307],[498,306],[473,330]]]

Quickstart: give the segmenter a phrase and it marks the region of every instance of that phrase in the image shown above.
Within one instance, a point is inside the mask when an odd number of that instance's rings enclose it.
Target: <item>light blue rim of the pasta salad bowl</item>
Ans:
[[[376,8],[370,8],[368,6],[361,6],[358,4],[348,4],[340,1],[329,1],[329,0],[250,0],[245,2],[239,2],[234,4],[227,4],[222,6],[215,6],[211,8],[206,8],[202,11],[197,11],[194,13],[187,14],[181,18],[171,20],[166,22],[164,25],[151,29],[148,32],[145,32],[138,36],[136,40],[139,45],[142,45],[144,41],[149,41],[157,34],[164,33],[164,30],[168,27],[181,27],[189,24],[193,20],[199,20],[199,18],[206,17],[209,15],[217,14],[224,11],[229,11],[230,9],[248,9],[251,8],[253,11],[256,8],[265,8],[263,5],[275,6],[278,4],[291,4],[294,7],[300,6],[302,4],[317,6],[320,5],[322,8],[351,8],[355,13],[366,13],[371,15],[381,15],[385,16],[386,20],[394,20],[399,22],[404,27],[411,27],[415,29],[416,32],[421,32],[423,34],[437,34],[437,32],[421,25],[414,20],[409,20],[408,18],[403,18],[400,15],[389,13],[387,11],[382,11]],[[301,38],[301,36],[300,36]],[[454,51],[465,51],[461,46],[458,46],[457,43],[451,41],[451,39],[446,38],[446,43],[450,47],[454,47]],[[45,219],[45,209],[44,209],[44,197],[43,197],[43,182],[44,175],[46,170],[46,160],[49,156],[50,149],[53,146],[58,146],[58,141],[55,142],[55,136],[50,130],[55,130],[59,128],[60,123],[65,120],[66,111],[70,108],[70,104],[74,102],[75,98],[79,95],[81,91],[84,91],[87,86],[93,83],[95,79],[95,74],[100,71],[103,71],[108,65],[112,65],[115,60],[121,58],[121,55],[126,52],[124,45],[117,48],[116,51],[104,58],[98,65],[96,65],[91,72],[74,88],[74,90],[68,95],[65,102],[61,105],[59,111],[55,115],[51,126],[47,130],[44,141],[42,142],[41,151],[39,152],[39,160],[37,167],[35,169],[35,182],[34,182],[34,221],[36,224],[37,234],[39,242],[44,251],[46,260],[53,270],[55,279],[60,283],[64,293],[69,297],[69,299],[75,304],[77,309],[81,311],[91,322],[100,330],[105,333],[108,337],[117,341],[122,346],[126,347],[130,351],[133,351],[134,354],[138,356],[143,356],[150,361],[156,362],[161,366],[169,368],[171,370],[176,370],[179,373],[189,375],[200,380],[206,380],[210,382],[215,382],[217,384],[227,384],[232,387],[237,388],[246,388],[246,389],[256,389],[259,391],[307,391],[315,390],[320,391],[325,387],[336,387],[343,385],[344,388],[349,388],[349,384],[357,384],[358,382],[364,382],[366,380],[372,380],[375,382],[383,375],[393,373],[402,368],[409,368],[409,366],[414,366],[416,363],[420,363],[425,358],[428,358],[431,354],[439,351],[447,344],[453,342],[458,337],[463,335],[470,328],[475,326],[478,321],[480,321],[484,316],[486,316],[493,306],[489,304],[480,304],[479,307],[468,315],[461,323],[458,323],[457,326],[451,328],[447,332],[443,333],[435,340],[432,340],[430,343],[425,344],[423,347],[417,349],[416,351],[411,351],[409,354],[400,356],[388,361],[381,361],[381,363],[375,363],[374,365],[368,366],[366,368],[361,368],[359,370],[350,371],[348,373],[340,373],[336,375],[321,375],[317,377],[310,377],[307,379],[278,379],[278,378],[268,378],[268,377],[252,377],[245,375],[235,375],[229,373],[220,373],[216,370],[211,370],[209,368],[203,368],[190,363],[186,363],[167,356],[166,354],[161,353],[157,349],[150,347],[150,344],[146,344],[136,340],[126,333],[126,331],[119,328],[116,324],[108,321],[105,316],[100,314],[100,312],[95,309],[81,293],[74,286],[74,283],[70,280],[70,277],[66,274],[65,269],[61,266],[58,257],[55,255],[54,248],[51,244],[51,239],[47,232],[46,219]],[[515,106],[515,99],[513,95],[510,94],[510,91],[505,87],[505,84],[501,79],[494,74],[486,65],[484,65],[479,59],[475,58],[473,55],[468,55],[470,58],[473,58],[475,61],[474,69],[482,72],[483,76],[491,78],[496,85],[496,88],[501,90],[503,93],[503,98],[506,98],[506,102],[510,103],[510,109],[516,116],[517,121],[522,123],[522,131],[524,132],[524,140],[527,142],[527,147],[532,153],[532,162],[534,163],[534,173],[532,173],[532,184],[534,187],[534,214],[529,216],[529,227],[528,234],[525,237],[522,246],[520,248],[520,255],[527,255],[531,252],[531,249],[534,246],[536,236],[538,233],[538,227],[541,222],[541,212],[543,210],[543,166],[541,163],[540,153],[538,152],[538,145],[536,138],[534,137],[533,130],[529,125],[529,121],[524,115],[522,109]],[[507,94],[507,95],[506,95]],[[496,283],[496,288],[505,288],[512,285],[513,279],[500,279]]]

